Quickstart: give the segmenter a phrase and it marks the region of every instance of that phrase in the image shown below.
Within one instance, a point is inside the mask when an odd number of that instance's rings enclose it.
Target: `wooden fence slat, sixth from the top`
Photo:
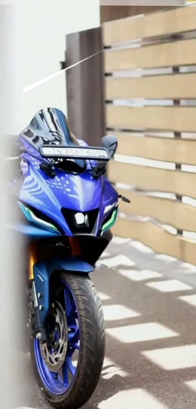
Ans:
[[[142,165],[108,163],[107,176],[112,182],[133,185],[148,191],[162,191],[196,198],[196,174],[157,169]]]

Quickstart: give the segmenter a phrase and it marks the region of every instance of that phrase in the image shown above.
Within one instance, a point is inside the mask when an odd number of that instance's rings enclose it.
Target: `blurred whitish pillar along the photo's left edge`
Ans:
[[[0,407],[4,409],[18,406],[23,380],[22,361],[16,353],[23,335],[19,331],[23,282],[17,243],[6,229],[13,209],[5,197],[10,167],[5,167],[7,145],[3,143],[18,115],[15,35],[16,8],[0,5]]]

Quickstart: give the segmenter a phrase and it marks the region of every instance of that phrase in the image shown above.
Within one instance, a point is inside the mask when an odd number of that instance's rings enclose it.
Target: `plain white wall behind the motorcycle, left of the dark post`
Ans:
[[[13,133],[19,133],[43,107],[54,106],[67,112],[64,73],[27,94],[22,94],[22,89],[60,70],[66,34],[99,24],[99,0],[18,1],[18,111]]]

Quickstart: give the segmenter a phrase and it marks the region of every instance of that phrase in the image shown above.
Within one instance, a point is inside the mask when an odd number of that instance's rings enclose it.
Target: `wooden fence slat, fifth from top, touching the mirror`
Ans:
[[[118,138],[118,155],[196,165],[196,140],[194,139],[141,137],[118,132],[108,132],[108,134]]]

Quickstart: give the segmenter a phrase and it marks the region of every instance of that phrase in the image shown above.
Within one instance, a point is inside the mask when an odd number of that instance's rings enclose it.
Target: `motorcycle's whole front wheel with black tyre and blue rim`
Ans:
[[[47,317],[50,340],[31,340],[38,386],[55,408],[79,409],[96,389],[105,357],[101,301],[89,276],[59,273]]]

